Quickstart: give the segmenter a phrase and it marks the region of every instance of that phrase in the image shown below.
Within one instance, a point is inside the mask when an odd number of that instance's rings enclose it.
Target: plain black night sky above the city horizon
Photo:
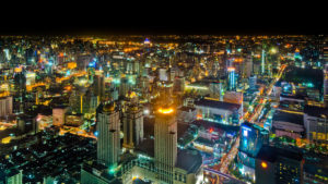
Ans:
[[[31,4],[1,11],[1,35],[75,34],[328,34],[324,4],[187,4],[161,1],[155,7],[122,4]],[[82,1],[81,1],[82,3]],[[126,4],[125,4],[126,3]],[[171,4],[172,3],[172,4]],[[191,1],[189,3],[192,3]],[[199,2],[198,2],[199,3]],[[274,4],[276,3],[276,4]],[[251,8],[249,8],[251,7]]]

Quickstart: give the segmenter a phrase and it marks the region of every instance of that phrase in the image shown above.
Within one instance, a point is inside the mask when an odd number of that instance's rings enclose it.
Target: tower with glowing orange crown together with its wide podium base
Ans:
[[[122,183],[131,184],[136,179],[144,179],[153,183],[195,184],[201,176],[201,155],[197,150],[177,149],[175,114],[176,109],[172,106],[156,110],[154,140],[142,143],[147,147],[154,144],[154,157],[139,155],[138,159],[122,165]]]

